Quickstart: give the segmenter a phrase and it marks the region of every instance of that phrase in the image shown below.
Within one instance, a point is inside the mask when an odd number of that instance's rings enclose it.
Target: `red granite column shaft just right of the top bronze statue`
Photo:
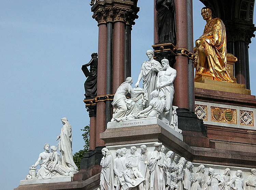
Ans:
[[[187,49],[187,18],[186,18],[186,0],[174,0],[176,10],[176,26],[177,26],[177,48]],[[173,105],[179,108],[188,108],[188,58],[185,56],[176,56],[174,69],[177,76],[174,81],[174,99]]]

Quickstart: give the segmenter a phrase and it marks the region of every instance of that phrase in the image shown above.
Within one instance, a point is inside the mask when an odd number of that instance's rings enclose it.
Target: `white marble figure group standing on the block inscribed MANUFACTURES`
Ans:
[[[127,77],[116,90],[112,102],[114,114],[111,121],[159,117],[170,127],[178,130],[177,107],[172,105],[176,70],[170,67],[167,59],[162,59],[161,64],[154,60],[153,50],[147,50],[146,55],[148,61],[142,63],[135,88],[131,87],[132,78]],[[141,79],[143,88],[139,88]],[[126,98],[127,93],[131,93],[131,99]]]

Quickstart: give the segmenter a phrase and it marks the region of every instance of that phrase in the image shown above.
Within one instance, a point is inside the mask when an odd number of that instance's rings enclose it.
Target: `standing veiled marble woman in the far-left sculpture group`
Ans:
[[[61,154],[61,165],[67,167],[71,172],[78,172],[78,167],[75,165],[72,154],[72,128],[66,117],[61,119],[63,127],[56,141],[59,140],[59,150]]]

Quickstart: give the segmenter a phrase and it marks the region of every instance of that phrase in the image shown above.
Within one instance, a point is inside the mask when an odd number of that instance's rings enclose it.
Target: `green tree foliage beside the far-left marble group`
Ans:
[[[80,169],[80,161],[83,159],[84,155],[89,151],[90,127],[85,126],[84,129],[81,129],[81,131],[84,131],[84,133],[82,134],[85,143],[84,149],[75,152],[75,154],[73,155],[75,165],[78,167],[78,169]]]

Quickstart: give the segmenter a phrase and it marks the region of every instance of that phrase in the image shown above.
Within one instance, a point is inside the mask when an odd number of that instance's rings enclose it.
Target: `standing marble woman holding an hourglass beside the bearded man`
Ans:
[[[162,70],[162,65],[153,58],[153,50],[147,50],[146,55],[148,57],[148,61],[144,61],[142,63],[141,71],[135,87],[139,87],[139,83],[141,79],[143,79],[142,86],[143,90],[146,92],[144,98],[147,100],[145,107],[148,107],[148,103],[151,100],[150,94],[156,89],[157,73]]]

